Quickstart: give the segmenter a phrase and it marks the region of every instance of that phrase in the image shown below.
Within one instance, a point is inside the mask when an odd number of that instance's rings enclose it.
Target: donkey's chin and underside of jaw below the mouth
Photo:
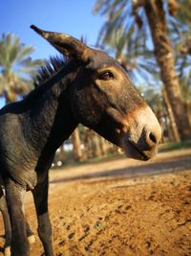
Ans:
[[[147,161],[157,153],[155,151],[140,151],[136,144],[131,141],[125,141],[122,143],[121,148],[125,151],[127,157],[134,158],[137,160]]]

